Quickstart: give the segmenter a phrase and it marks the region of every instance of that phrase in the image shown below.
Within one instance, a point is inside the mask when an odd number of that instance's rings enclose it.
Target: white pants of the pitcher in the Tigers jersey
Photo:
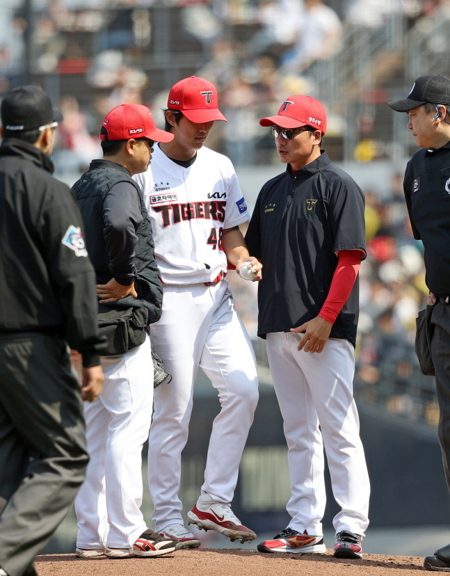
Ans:
[[[218,391],[201,490],[231,502],[258,399],[255,353],[227,282],[164,287],[163,314],[152,346],[172,381],[156,388],[148,479],[156,530],[182,520],[181,454],[188,438],[193,383],[200,367]],[[200,487],[199,487],[200,494]],[[194,503],[192,503],[194,504]]]

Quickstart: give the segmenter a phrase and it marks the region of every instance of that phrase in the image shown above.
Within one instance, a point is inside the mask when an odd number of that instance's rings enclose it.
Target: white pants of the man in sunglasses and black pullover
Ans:
[[[335,531],[364,536],[370,487],[353,399],[353,346],[348,340],[328,339],[321,353],[298,351],[302,336],[267,335],[268,361],[288,446],[289,527],[323,534],[325,447],[332,492],[341,507],[333,519]]]

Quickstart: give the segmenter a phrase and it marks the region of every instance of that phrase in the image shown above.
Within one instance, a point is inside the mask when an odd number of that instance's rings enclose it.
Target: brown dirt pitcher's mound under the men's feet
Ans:
[[[408,576],[424,559],[364,554],[362,560],[326,554],[260,554],[254,550],[178,550],[158,558],[91,559],[38,556],[39,576]]]

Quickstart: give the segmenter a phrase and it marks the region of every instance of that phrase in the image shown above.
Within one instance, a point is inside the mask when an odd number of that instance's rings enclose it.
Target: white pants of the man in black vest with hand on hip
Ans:
[[[129,548],[147,528],[140,505],[142,447],[152,417],[151,358],[149,337],[123,355],[102,356],[102,393],[84,402],[90,461],[75,499],[79,548]]]

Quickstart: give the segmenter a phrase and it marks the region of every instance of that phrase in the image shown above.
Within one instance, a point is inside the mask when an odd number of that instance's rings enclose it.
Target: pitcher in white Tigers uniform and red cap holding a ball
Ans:
[[[221,410],[212,427],[200,497],[187,514],[188,523],[219,531],[232,541],[251,541],[255,532],[241,525],[230,502],[257,405],[257,368],[224,278],[228,264],[239,270],[249,262],[253,280],[260,280],[262,265],[250,257],[239,230],[249,215],[232,163],[204,147],[214,121],[225,120],[216,88],[193,76],[179,81],[170,90],[165,118],[174,139],[154,147],[152,173],[135,177],[152,221],[163,280],[163,313],[152,325],[152,346],[172,374],[170,385],[155,390],[149,438],[155,529],[177,538],[178,547],[200,545],[184,527],[178,497],[200,367],[218,392]]]

